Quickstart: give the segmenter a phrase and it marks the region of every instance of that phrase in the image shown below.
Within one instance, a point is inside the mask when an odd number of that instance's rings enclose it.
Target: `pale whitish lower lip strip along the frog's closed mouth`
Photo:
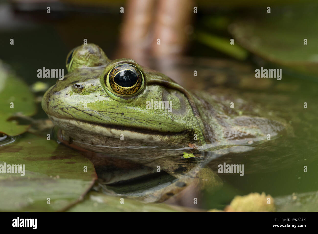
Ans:
[[[172,136],[176,134],[186,134],[186,131],[181,131],[181,132],[160,132],[160,131],[153,131],[153,130],[147,130],[147,129],[139,129],[139,128],[133,128],[133,127],[122,127],[122,126],[116,126],[116,125],[107,125],[107,124],[100,124],[100,123],[94,123],[94,122],[89,122],[85,120],[79,120],[79,119],[72,119],[72,118],[61,118],[61,117],[56,117],[50,114],[47,114],[48,117],[52,120],[54,124],[59,126],[60,128],[63,129],[72,129],[72,128],[80,128],[84,131],[98,131],[98,128],[103,129],[100,133],[103,134],[105,132],[110,132],[112,133],[115,131],[118,132],[123,132],[123,131],[129,131],[129,132],[135,132],[135,133],[140,133],[140,134],[148,134],[148,135],[164,135],[164,136]],[[82,125],[86,124],[86,128],[81,128]],[[63,126],[61,126],[63,125]]]

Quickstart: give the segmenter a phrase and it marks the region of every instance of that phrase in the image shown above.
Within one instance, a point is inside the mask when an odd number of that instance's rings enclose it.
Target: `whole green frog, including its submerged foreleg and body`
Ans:
[[[134,60],[109,60],[94,44],[72,50],[66,67],[64,80],[42,100],[60,129],[59,140],[96,152],[92,161],[106,184],[155,174],[159,167],[175,178],[143,194],[146,201],[164,201],[185,188],[219,187],[222,181],[206,167],[213,157],[205,152],[224,154],[233,147],[242,152],[251,148],[246,145],[266,141],[267,134],[273,138],[285,131],[283,121],[242,115],[226,98],[189,92]],[[149,108],[155,101],[171,103],[171,110]],[[234,103],[237,110],[246,105]],[[184,159],[186,150],[195,158]],[[116,167],[121,169],[116,172]]]

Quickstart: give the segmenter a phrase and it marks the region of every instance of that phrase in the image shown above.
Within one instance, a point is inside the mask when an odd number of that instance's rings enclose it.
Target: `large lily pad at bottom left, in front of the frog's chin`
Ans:
[[[31,133],[0,147],[0,167],[5,163],[25,165],[25,175],[0,173],[0,211],[64,210],[80,201],[97,178],[87,158]]]

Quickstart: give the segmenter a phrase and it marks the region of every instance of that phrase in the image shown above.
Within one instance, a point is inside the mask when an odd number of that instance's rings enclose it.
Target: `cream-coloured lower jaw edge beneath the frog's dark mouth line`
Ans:
[[[100,133],[101,135],[107,135],[108,137],[120,136],[120,134],[126,133],[133,133],[133,134],[142,134],[142,135],[157,135],[157,136],[175,136],[175,135],[186,135],[187,131],[180,131],[180,132],[157,132],[152,130],[143,130],[143,129],[136,129],[136,128],[128,128],[128,127],[119,127],[114,125],[107,125],[107,124],[99,124],[93,123],[85,120],[77,120],[77,119],[69,119],[69,118],[59,118],[48,114],[48,117],[52,120],[52,122],[65,130],[69,129],[72,130],[74,128],[81,129],[84,131],[90,131],[95,133]],[[84,126],[85,125],[85,126]],[[88,125],[88,126],[87,126]],[[82,126],[82,127],[81,127]],[[86,130],[88,129],[88,130]],[[120,134],[119,134],[120,133]],[[119,134],[119,135],[118,135]],[[138,137],[138,136],[135,136]],[[144,138],[144,136],[142,137]]]

